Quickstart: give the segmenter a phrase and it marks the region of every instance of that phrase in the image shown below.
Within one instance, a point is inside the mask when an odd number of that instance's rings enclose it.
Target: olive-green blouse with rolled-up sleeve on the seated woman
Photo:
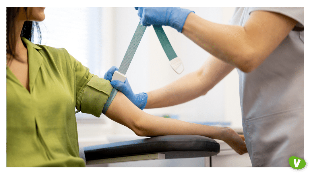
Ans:
[[[100,117],[113,87],[65,49],[22,40],[30,93],[7,68],[7,167],[85,167],[75,108]]]

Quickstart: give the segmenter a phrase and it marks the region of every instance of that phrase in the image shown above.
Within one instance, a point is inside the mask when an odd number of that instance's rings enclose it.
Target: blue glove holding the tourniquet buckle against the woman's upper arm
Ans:
[[[116,66],[112,66],[105,74],[104,79],[111,81],[112,76],[114,74],[114,71],[118,70]],[[148,100],[148,95],[144,92],[141,92],[139,94],[135,94],[129,85],[128,79],[125,80],[125,82],[121,82],[119,80],[113,80],[110,82],[112,87],[117,89],[118,91],[121,91],[126,97],[135,104],[138,108],[141,110],[144,109],[146,102]]]

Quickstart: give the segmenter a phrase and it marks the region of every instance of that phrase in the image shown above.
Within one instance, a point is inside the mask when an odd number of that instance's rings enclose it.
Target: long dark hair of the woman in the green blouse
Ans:
[[[14,24],[15,24],[15,18],[17,17],[20,10],[27,11],[28,7],[7,7],[7,53],[12,55],[12,58],[15,57],[15,43],[13,43],[13,40],[15,40],[14,35]],[[28,18],[28,16],[27,16]],[[34,28],[37,29],[38,32],[38,42],[41,43],[42,36],[41,36],[41,30],[39,27],[38,22],[33,21],[25,21],[23,25],[23,29],[20,33],[21,37],[25,37],[29,41],[33,41],[33,31]]]

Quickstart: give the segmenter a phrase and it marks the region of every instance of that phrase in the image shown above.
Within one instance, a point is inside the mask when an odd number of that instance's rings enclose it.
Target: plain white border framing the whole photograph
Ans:
[[[134,0],[134,1],[128,1],[128,0],[118,0],[118,1],[98,1],[98,0],[88,0],[88,1],[74,1],[74,3],[69,1],[59,1],[59,0],[53,0],[53,1],[6,1],[2,2],[1,8],[1,21],[5,23],[6,21],[6,6],[304,6],[305,9],[307,9],[307,5],[305,2],[281,2],[275,3],[271,2],[270,0],[261,0],[259,3],[253,3],[250,1],[245,2],[234,2],[230,0],[224,0],[220,2],[214,2],[214,1],[167,1],[167,0],[156,0],[156,1],[142,1],[142,0]],[[308,16],[309,12],[307,10],[304,11],[304,16]],[[305,23],[307,23],[308,18],[305,19]],[[6,29],[4,24],[1,25],[1,31],[2,33],[6,33]],[[308,35],[306,34],[305,37],[307,38]],[[0,35],[1,40],[1,55],[3,55],[2,63],[0,64],[2,68],[0,68],[0,71],[2,75],[0,75],[1,81],[5,82],[6,78],[6,63],[4,62],[4,57],[6,54],[6,48],[4,40],[6,40],[6,35],[2,34]],[[307,40],[307,39],[306,39]],[[305,43],[305,48],[307,48],[307,42]],[[308,49],[305,49],[304,52],[304,65],[309,65],[310,60],[308,59]],[[305,68],[304,70],[304,89],[310,89],[309,80],[309,69]],[[51,173],[55,174],[57,173],[67,173],[67,172],[74,172],[74,173],[85,173],[85,172],[113,172],[113,173],[210,173],[210,172],[217,172],[217,173],[230,173],[230,172],[237,172],[237,173],[292,173],[289,168],[70,168],[69,171],[66,171],[66,169],[59,169],[59,168],[49,168],[49,169],[41,169],[41,168],[6,168],[6,141],[4,139],[6,138],[6,83],[0,83],[0,113],[2,116],[1,121],[1,151],[0,151],[0,166],[1,168],[4,168],[5,173]],[[304,105],[309,106],[309,91],[304,90]],[[309,123],[309,108],[305,107],[304,109],[304,124],[307,125]],[[307,134],[309,131],[309,126],[304,126],[304,147],[309,147],[309,136]],[[309,149],[304,148],[304,157],[308,158],[308,161],[310,160],[309,155]],[[310,169],[308,169],[310,170]]]

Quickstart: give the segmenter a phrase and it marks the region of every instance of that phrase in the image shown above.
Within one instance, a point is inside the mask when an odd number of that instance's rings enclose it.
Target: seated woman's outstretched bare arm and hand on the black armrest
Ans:
[[[137,108],[125,95],[117,92],[106,114],[108,118],[130,128],[138,136],[201,135],[223,140],[237,153],[247,152],[244,137],[227,127],[188,123],[171,118],[156,117]],[[242,139],[243,138],[243,139]]]

